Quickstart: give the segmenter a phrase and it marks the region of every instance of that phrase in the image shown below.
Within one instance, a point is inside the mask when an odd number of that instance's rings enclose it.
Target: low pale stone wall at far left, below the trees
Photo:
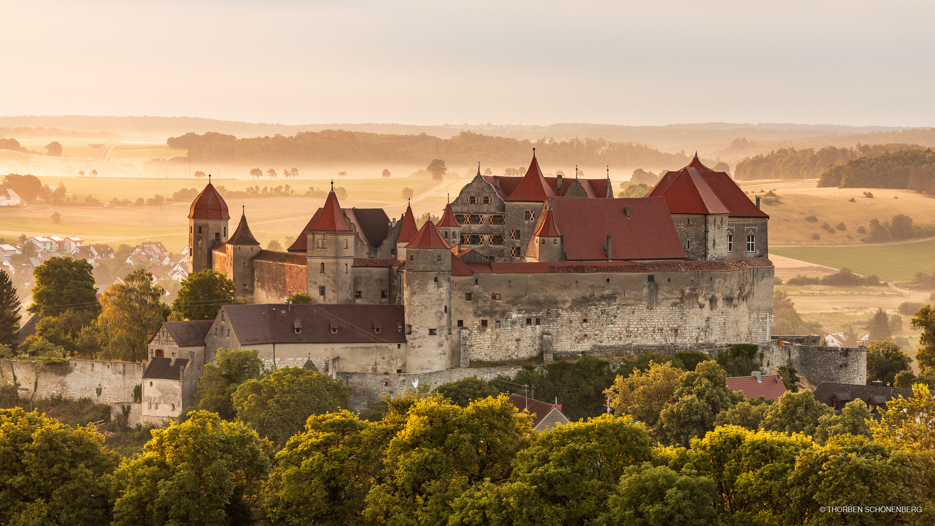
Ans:
[[[44,365],[39,372],[36,399],[61,396],[69,400],[90,398],[95,403],[133,402],[133,388],[143,381],[145,364],[125,361],[69,359],[67,365]],[[20,398],[33,396],[36,362],[0,360],[2,381],[20,382]],[[97,396],[97,387],[101,396]]]

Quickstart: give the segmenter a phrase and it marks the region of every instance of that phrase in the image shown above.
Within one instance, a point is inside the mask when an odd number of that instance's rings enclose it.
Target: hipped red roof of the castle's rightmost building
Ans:
[[[647,197],[656,196],[667,198],[672,213],[729,212],[730,217],[770,217],[756,208],[753,201],[746,197],[741,187],[734,183],[726,172],[713,171],[701,164],[698,157],[692,159],[685,168],[670,171],[655,183]],[[721,203],[723,209],[716,206],[711,196]],[[704,212],[705,210],[726,212]]]

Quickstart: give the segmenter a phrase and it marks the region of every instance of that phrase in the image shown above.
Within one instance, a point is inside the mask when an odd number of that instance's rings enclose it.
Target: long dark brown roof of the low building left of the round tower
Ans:
[[[281,303],[224,305],[241,345],[260,343],[405,343],[402,305]],[[299,332],[295,331],[295,322]],[[381,332],[376,332],[377,325]],[[338,329],[331,332],[332,326]]]

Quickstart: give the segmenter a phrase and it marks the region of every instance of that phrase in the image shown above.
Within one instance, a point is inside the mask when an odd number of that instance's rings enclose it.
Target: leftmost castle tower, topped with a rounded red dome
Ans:
[[[230,218],[227,203],[209,180],[208,186],[192,201],[188,213],[189,274],[214,267],[211,249],[227,242],[227,222]]]

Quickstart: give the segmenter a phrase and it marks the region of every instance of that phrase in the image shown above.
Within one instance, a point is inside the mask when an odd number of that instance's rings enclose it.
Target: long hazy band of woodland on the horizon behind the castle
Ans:
[[[451,139],[426,134],[386,135],[343,130],[297,133],[292,137],[237,139],[232,135],[208,132],[188,133],[169,138],[175,148],[192,149],[194,161],[248,163],[271,161],[317,162],[410,162],[423,164],[444,159],[449,164],[522,166],[529,162],[532,149],[550,164],[589,164],[614,166],[682,167],[684,153],[664,153],[634,142],[605,139],[539,139],[535,141],[486,136],[469,131]],[[158,162],[154,160],[154,162]],[[188,162],[177,157],[169,162]]]

